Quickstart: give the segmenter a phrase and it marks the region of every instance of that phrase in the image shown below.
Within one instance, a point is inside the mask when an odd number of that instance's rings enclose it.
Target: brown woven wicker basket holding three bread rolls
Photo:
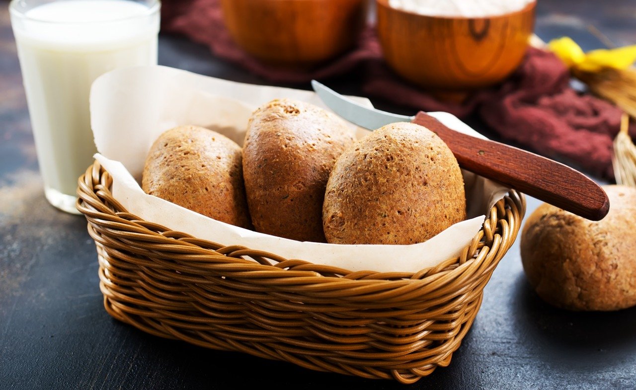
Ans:
[[[350,272],[143,221],[111,184],[95,162],[79,179],[77,205],[111,316],[202,347],[402,383],[450,363],[525,213],[511,191],[458,258],[415,274]]]

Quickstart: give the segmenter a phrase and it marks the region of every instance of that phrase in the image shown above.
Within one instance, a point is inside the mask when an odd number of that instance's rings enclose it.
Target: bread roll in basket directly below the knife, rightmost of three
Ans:
[[[462,172],[436,134],[392,123],[338,158],[322,218],[335,244],[422,242],[466,218]]]

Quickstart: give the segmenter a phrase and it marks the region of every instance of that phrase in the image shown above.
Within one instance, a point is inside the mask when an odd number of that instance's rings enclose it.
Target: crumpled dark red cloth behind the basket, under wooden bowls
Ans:
[[[531,48],[507,80],[470,96],[462,104],[441,102],[400,80],[384,64],[369,27],[354,50],[314,71],[280,70],[261,64],[235,45],[223,24],[218,0],[163,0],[163,31],[184,34],[212,53],[272,82],[304,83],[361,67],[366,94],[424,111],[478,115],[502,139],[548,157],[561,157],[588,172],[612,177],[612,139],[621,111],[569,86],[570,75],[552,53]],[[630,128],[636,135],[636,126]]]

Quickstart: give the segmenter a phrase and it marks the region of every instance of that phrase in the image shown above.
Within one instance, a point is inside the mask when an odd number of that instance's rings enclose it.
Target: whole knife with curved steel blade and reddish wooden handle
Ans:
[[[415,116],[397,115],[364,107],[312,80],[322,102],[345,120],[375,130],[394,122],[413,122],[439,136],[453,152],[459,166],[531,197],[592,221],[609,211],[604,190],[579,171],[506,144],[451,130],[423,111]]]

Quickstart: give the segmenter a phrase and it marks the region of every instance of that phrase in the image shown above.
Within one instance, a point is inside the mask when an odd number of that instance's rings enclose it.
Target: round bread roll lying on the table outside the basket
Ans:
[[[588,221],[550,204],[525,222],[523,269],[537,294],[569,310],[636,305],[636,189],[604,186],[609,213]]]

